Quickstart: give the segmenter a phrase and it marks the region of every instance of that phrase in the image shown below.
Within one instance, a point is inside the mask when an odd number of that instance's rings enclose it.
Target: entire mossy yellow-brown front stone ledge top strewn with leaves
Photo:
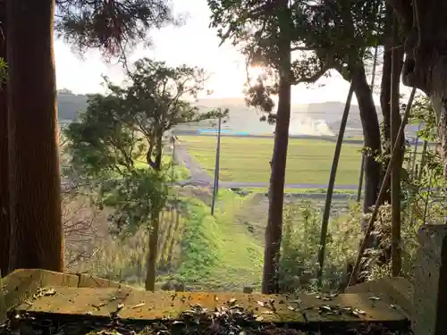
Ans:
[[[46,288],[51,289],[51,288]],[[310,295],[262,295],[232,292],[145,292],[136,289],[55,288],[51,296],[41,296],[18,307],[29,314],[92,315],[146,322],[165,318],[180,319],[182,312],[195,306],[214,311],[217,307],[243,308],[257,315],[258,322],[343,325],[365,322],[408,322],[405,314],[381,297],[343,294],[337,297]],[[190,312],[189,312],[190,313]]]

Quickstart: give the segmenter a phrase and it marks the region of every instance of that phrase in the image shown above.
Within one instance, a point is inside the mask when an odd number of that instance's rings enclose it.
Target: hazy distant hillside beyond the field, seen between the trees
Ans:
[[[60,121],[74,121],[79,111],[87,107],[87,96],[75,95],[67,89],[57,92],[57,108]],[[223,124],[223,130],[228,133],[249,133],[252,135],[266,135],[274,132],[274,126],[259,121],[262,113],[255,108],[249,108],[241,98],[208,98],[198,102],[198,107],[204,112],[211,108],[228,108],[230,120]],[[382,121],[380,106],[375,106]],[[291,106],[291,135],[333,136],[340,129],[344,104],[330,101],[318,104],[302,104]],[[196,131],[198,129],[215,129],[215,121],[182,124],[175,131]],[[409,127],[412,136],[416,127]],[[350,106],[346,136],[361,136],[362,126],[358,105]]]

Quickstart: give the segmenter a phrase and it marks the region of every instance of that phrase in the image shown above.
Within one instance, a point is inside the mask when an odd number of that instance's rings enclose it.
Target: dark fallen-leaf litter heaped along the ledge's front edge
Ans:
[[[109,318],[99,319],[84,315],[73,319],[72,315],[52,314],[13,314],[8,322],[0,325],[0,335],[325,335],[325,334],[374,334],[409,335],[409,331],[391,331],[378,324],[350,325],[349,329],[336,331],[298,331],[282,328],[264,322],[263,314],[274,314],[273,302],[258,305],[266,311],[255,314],[253,311],[237,305],[236,299],[229,300],[223,306],[207,309],[198,304],[191,305],[178,318],[165,318],[157,322],[138,322],[121,319],[118,312],[123,306],[117,306]],[[268,307],[268,309],[267,309]],[[289,307],[288,307],[289,308]],[[294,307],[291,306],[294,309]],[[289,309],[291,309],[289,308]],[[365,314],[364,311],[349,307],[318,306],[321,313]]]

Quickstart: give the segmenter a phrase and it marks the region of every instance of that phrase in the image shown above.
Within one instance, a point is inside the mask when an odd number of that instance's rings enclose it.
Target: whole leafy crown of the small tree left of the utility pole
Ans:
[[[129,72],[128,86],[105,80],[107,94],[89,96],[80,121],[64,130],[73,169],[96,186],[99,205],[114,207],[111,218],[119,230],[133,231],[157,219],[164,207],[165,132],[179,123],[228,114],[201,113],[193,105],[206,79],[198,68],[141,59]]]

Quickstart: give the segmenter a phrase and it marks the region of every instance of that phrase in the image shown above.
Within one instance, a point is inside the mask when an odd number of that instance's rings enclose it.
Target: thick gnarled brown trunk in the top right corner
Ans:
[[[398,13],[405,35],[402,82],[430,97],[447,178],[447,1],[387,0]]]

